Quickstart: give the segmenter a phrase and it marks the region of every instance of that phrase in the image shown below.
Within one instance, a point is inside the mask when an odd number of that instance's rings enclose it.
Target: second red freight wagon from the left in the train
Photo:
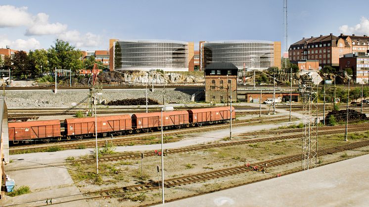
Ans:
[[[97,133],[110,133],[132,130],[131,116],[128,114],[97,117]],[[87,135],[95,132],[95,118],[66,119],[65,131],[67,136]]]

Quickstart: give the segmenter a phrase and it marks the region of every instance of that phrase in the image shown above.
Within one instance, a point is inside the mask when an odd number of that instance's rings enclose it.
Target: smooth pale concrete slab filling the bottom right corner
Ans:
[[[229,190],[167,203],[166,207],[368,206],[369,155]],[[160,205],[163,206],[163,205]]]

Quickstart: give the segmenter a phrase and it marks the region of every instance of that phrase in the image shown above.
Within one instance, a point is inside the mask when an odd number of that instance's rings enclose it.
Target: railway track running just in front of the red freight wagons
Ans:
[[[274,117],[274,120],[268,120],[269,123],[276,123],[276,122],[283,122],[283,121],[288,121],[289,119],[283,118],[283,116],[277,116]],[[252,120],[248,120],[248,121],[238,121],[235,122],[233,125],[233,127],[237,127],[237,126],[246,126],[246,125],[251,125],[251,124],[260,124],[263,123],[263,121],[265,121],[265,119],[263,118],[256,118],[256,119],[252,119]],[[217,125],[207,125],[207,126],[202,126],[201,127],[201,131],[211,131],[211,130],[219,130],[219,129],[224,129],[224,128],[228,128],[229,124],[217,124]],[[165,131],[165,136],[169,137],[169,136],[174,136],[174,135],[180,135],[180,134],[187,134],[187,133],[194,133],[194,132],[198,132],[198,127],[193,127],[193,128],[185,128],[185,129],[181,129],[181,130],[169,130],[169,131]],[[106,142],[113,142],[114,146],[126,146],[126,145],[134,145],[134,144],[150,144],[153,139],[152,137],[155,136],[159,136],[160,132],[152,132],[152,133],[144,133],[144,134],[135,134],[135,135],[130,135],[130,136],[125,136],[123,138],[114,138],[114,139],[102,139],[102,140],[98,140],[97,141],[97,145],[98,146],[105,146]],[[178,139],[179,140],[179,139]],[[177,141],[178,141],[177,140]],[[54,145],[42,145],[42,146],[30,146],[30,145],[24,145],[24,146],[16,146],[16,147],[10,147],[9,149],[9,153],[10,154],[21,154],[21,153],[26,153],[29,151],[32,152],[37,152],[37,151],[43,151],[43,150],[47,150],[49,147],[52,146],[58,146],[60,148],[62,148],[63,150],[67,150],[67,149],[80,149],[81,146],[83,146],[84,148],[90,148],[90,147],[94,147],[95,146],[95,140],[91,140],[91,141],[68,141],[66,143],[60,143],[57,142]]]

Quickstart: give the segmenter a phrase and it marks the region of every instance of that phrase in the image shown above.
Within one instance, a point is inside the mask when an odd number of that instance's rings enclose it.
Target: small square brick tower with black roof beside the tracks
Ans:
[[[215,103],[237,101],[237,67],[232,63],[210,63],[205,68],[205,101]]]

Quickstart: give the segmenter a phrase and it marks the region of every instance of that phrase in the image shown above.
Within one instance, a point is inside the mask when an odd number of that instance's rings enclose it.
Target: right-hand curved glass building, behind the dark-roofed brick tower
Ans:
[[[275,41],[205,41],[201,43],[201,68],[213,62],[230,62],[238,69],[266,70],[280,68],[280,42]]]

